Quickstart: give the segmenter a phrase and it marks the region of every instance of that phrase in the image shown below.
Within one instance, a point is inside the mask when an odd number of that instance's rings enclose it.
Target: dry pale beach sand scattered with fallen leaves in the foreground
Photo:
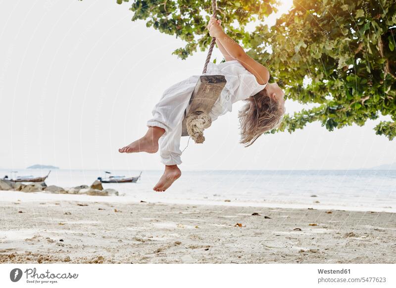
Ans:
[[[0,218],[0,263],[396,263],[395,213],[3,201]]]

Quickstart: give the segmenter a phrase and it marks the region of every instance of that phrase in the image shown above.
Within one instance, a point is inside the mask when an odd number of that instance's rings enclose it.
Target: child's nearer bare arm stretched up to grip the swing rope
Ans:
[[[225,34],[216,18],[210,18],[207,28],[209,30],[209,35],[216,38],[216,42],[219,42],[222,45],[231,58],[238,60],[247,69],[247,71],[253,74],[259,84],[262,85],[268,82],[268,69],[248,56],[245,50],[237,42]]]

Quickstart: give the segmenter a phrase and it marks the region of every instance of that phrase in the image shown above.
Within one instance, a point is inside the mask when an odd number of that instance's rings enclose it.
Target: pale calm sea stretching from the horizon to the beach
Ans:
[[[125,177],[142,172],[137,183],[103,184],[104,189],[117,190],[120,201],[396,212],[396,170],[183,171],[166,192],[152,190],[162,171],[111,172],[113,176]],[[22,169],[17,175],[47,173],[48,170]],[[0,169],[0,178],[4,175],[10,177],[11,170]],[[51,171],[46,184],[91,185],[98,177],[106,174],[101,170],[58,169]],[[105,196],[96,197],[100,201]]]

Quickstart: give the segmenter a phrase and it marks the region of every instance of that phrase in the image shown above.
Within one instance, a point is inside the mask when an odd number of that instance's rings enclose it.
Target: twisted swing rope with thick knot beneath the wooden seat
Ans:
[[[216,17],[217,12],[217,4],[216,0],[212,0],[212,10],[213,17]],[[214,44],[216,43],[216,38],[212,37],[212,41],[210,42],[209,50],[207,52],[205,65],[203,66],[202,74],[206,73],[207,65],[210,61],[210,57],[212,56],[212,51]],[[192,112],[186,121],[187,132],[191,138],[193,138],[195,143],[203,143],[205,141],[205,137],[203,136],[203,130],[209,128],[212,124],[212,119],[206,113],[202,111]]]

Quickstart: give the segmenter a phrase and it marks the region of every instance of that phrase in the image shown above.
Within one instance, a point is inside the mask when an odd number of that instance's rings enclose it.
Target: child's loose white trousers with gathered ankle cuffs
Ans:
[[[152,109],[152,118],[147,126],[165,129],[159,139],[161,162],[165,165],[181,164],[180,138],[182,122],[191,95],[199,76],[192,76],[171,86],[163,93],[159,102]]]

